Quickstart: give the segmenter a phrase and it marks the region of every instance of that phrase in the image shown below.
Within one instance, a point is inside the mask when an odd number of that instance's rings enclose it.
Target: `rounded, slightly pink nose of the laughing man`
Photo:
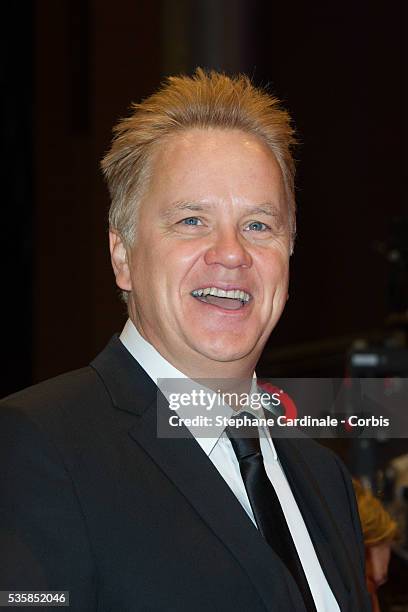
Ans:
[[[219,264],[231,269],[250,268],[252,265],[245,239],[233,227],[219,229],[205,253],[204,260],[208,265]]]

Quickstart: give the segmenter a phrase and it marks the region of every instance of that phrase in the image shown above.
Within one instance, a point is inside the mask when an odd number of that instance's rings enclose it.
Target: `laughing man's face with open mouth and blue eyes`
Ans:
[[[194,129],[158,148],[152,172],[128,265],[116,270],[133,322],[186,373],[255,364],[288,290],[288,211],[273,154],[238,130]]]

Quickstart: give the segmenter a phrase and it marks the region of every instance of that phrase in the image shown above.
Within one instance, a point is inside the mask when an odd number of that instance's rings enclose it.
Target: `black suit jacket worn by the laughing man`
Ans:
[[[90,366],[3,400],[0,590],[69,590],[72,612],[304,612],[196,441],[157,437],[156,400],[117,337]],[[369,610],[342,464],[311,440],[276,447],[341,610]]]

